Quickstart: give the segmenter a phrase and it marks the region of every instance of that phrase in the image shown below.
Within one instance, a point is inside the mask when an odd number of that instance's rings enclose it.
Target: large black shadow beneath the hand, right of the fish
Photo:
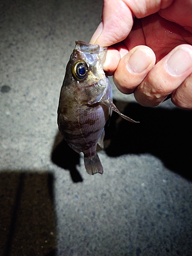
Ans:
[[[146,108],[132,102],[126,104],[123,114],[140,123],[121,118],[117,124],[117,115],[113,113],[105,130],[105,138],[111,139],[105,150],[108,156],[149,153],[161,159],[170,170],[192,180],[190,110]]]

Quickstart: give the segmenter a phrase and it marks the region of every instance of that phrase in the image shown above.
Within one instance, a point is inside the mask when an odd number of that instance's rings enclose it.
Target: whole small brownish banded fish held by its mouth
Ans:
[[[76,41],[66,68],[58,105],[58,127],[67,143],[77,153],[84,154],[88,174],[103,173],[96,152],[97,144],[103,149],[104,125],[117,112],[112,101],[112,88],[103,71],[106,47]]]

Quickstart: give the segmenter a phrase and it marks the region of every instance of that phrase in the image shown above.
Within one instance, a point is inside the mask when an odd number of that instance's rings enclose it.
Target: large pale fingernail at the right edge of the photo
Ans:
[[[167,70],[172,75],[181,75],[192,66],[188,48],[179,48],[167,60]]]

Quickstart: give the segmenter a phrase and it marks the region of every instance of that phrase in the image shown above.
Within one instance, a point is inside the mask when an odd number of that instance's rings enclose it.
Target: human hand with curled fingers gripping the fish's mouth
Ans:
[[[192,109],[192,0],[104,0],[91,44],[109,47],[103,69],[143,106],[171,94]],[[135,16],[135,18],[133,18]]]

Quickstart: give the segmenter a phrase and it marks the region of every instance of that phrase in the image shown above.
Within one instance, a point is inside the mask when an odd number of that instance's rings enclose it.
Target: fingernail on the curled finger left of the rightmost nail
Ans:
[[[151,64],[151,58],[143,50],[137,49],[133,52],[127,62],[127,68],[132,73],[140,74]]]

